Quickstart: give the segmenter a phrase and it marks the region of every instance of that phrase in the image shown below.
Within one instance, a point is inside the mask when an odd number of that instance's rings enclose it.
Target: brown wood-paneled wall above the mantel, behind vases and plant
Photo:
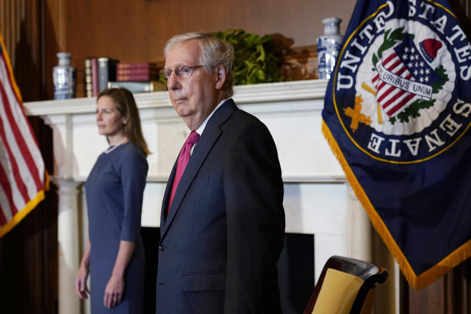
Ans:
[[[53,2],[53,1],[51,1]],[[108,56],[121,61],[161,61],[165,42],[189,31],[243,28],[248,32],[277,34],[288,47],[310,46],[323,34],[322,18],[338,16],[345,31],[354,7],[351,0],[81,0],[60,1],[63,18],[55,34],[58,48],[72,53],[78,69],[77,96],[83,96],[83,61]],[[46,15],[47,17],[47,15]],[[46,19],[47,22],[47,19]],[[57,63],[46,54],[46,69]],[[52,88],[52,85],[48,87]]]

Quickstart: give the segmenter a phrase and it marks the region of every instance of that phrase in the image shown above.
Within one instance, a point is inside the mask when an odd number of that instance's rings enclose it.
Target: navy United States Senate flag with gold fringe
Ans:
[[[471,255],[471,45],[446,0],[359,0],[322,131],[409,284]]]

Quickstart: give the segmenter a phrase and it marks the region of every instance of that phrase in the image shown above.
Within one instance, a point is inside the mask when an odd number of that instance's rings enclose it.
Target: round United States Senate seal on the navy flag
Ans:
[[[471,46],[432,1],[387,1],[345,41],[333,99],[351,141],[385,162],[415,163],[470,127]]]

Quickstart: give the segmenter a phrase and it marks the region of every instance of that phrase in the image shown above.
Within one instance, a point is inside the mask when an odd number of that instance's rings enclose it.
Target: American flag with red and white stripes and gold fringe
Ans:
[[[0,237],[44,199],[49,177],[0,35]]]

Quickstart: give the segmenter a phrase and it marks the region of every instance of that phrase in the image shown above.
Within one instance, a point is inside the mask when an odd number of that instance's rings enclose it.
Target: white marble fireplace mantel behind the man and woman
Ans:
[[[285,183],[286,232],[314,234],[316,278],[332,255],[369,260],[371,252],[366,240],[369,220],[321,132],[326,86],[327,80],[236,86],[233,97],[239,108],[257,116],[273,135]],[[142,226],[158,227],[165,185],[189,131],[167,92],[134,97],[153,152],[148,156]],[[87,239],[80,183],[108,145],[95,124],[96,98],[24,105],[28,115],[41,116],[53,130],[53,177],[59,188],[59,313],[72,313],[71,309],[80,307],[70,283],[83,250],[79,243]]]

